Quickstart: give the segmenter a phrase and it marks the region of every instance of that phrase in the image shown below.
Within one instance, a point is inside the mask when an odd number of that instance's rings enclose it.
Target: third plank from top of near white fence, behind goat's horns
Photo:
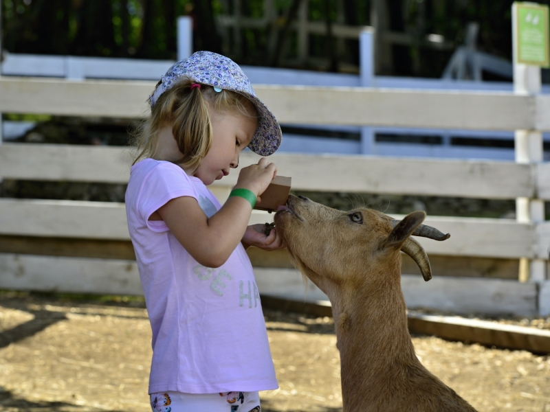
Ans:
[[[394,216],[400,218],[401,216]],[[270,222],[273,214],[254,211],[250,224]],[[484,258],[533,258],[535,227],[505,219],[429,216],[426,224],[451,233],[445,242],[419,238],[428,253]],[[128,240],[122,203],[0,199],[0,234]]]

